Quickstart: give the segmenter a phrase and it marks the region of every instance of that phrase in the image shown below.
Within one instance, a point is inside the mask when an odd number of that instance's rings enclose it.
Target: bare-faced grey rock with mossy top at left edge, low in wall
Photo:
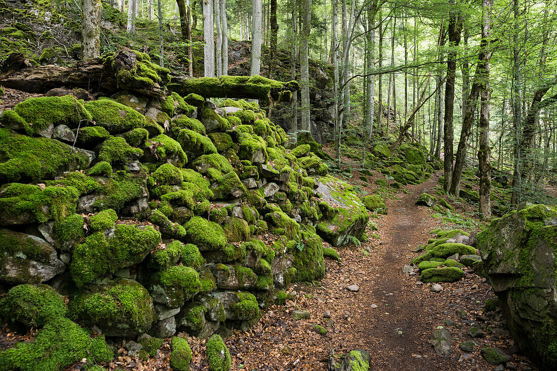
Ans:
[[[42,283],[66,269],[56,249],[37,236],[0,229],[0,240],[9,250],[0,253],[0,281],[10,284]]]

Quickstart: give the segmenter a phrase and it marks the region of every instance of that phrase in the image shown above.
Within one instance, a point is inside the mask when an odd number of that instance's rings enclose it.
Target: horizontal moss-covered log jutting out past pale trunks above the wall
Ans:
[[[289,102],[298,91],[297,81],[280,82],[262,76],[221,76],[173,81],[169,90],[181,96],[196,93],[204,98],[243,98]]]

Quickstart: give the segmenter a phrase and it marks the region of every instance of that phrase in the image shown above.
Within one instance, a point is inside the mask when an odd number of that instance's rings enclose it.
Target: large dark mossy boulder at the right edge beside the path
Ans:
[[[516,345],[550,370],[557,364],[557,209],[522,207],[492,221],[477,248]]]

